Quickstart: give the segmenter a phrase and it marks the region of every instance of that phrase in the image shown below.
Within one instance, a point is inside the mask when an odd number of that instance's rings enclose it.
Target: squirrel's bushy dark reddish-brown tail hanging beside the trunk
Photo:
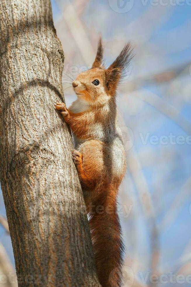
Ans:
[[[98,202],[89,220],[98,278],[103,287],[119,287],[122,284],[124,246],[116,197],[112,199],[110,195],[108,198],[105,194],[105,198]]]

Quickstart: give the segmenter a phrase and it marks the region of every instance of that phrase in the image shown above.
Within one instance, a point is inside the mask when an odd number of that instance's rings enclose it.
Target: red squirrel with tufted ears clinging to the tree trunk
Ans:
[[[55,105],[75,137],[72,156],[90,218],[95,263],[103,287],[122,284],[124,245],[117,194],[126,171],[126,157],[117,119],[116,89],[132,56],[128,42],[106,69],[100,37],[91,69],[72,82],[77,100],[69,108],[63,102]]]

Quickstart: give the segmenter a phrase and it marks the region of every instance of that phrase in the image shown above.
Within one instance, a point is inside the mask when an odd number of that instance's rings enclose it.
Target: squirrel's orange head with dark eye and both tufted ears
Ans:
[[[115,61],[106,69],[103,65],[103,43],[100,37],[98,50],[91,69],[80,73],[72,82],[79,98],[89,103],[104,103],[114,96],[117,84],[133,57],[131,43],[128,42]]]

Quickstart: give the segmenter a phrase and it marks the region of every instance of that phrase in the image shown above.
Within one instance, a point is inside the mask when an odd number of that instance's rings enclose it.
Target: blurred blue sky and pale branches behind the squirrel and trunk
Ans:
[[[51,2],[67,106],[76,98],[69,77],[91,67],[99,33],[106,66],[127,41],[135,50],[117,97],[128,163],[119,194],[124,286],[190,286],[191,1]],[[0,215],[1,275],[14,270],[1,192]]]

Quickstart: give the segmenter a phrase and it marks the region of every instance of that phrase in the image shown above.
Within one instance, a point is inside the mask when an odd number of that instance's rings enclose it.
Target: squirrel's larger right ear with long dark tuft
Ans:
[[[133,56],[131,42],[128,42],[115,61],[105,70],[106,88],[110,95],[115,93],[117,84],[120,78],[125,75],[127,66]]]

